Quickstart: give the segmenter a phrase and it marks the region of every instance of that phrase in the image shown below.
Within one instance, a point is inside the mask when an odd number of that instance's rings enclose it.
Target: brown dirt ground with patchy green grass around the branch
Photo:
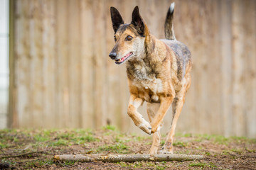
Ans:
[[[203,155],[197,161],[53,161],[56,154],[146,154],[150,146],[151,137],[124,134],[112,126],[96,131],[0,130],[0,169],[256,169],[255,139],[217,135],[176,135],[174,152]]]

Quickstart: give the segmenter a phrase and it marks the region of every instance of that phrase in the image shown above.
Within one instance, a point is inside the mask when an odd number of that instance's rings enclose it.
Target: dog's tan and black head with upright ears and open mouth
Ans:
[[[110,52],[110,58],[116,64],[122,64],[134,57],[142,57],[147,27],[139,15],[138,6],[134,8],[132,22],[129,24],[124,23],[116,8],[110,7],[110,12],[115,41],[115,45]]]

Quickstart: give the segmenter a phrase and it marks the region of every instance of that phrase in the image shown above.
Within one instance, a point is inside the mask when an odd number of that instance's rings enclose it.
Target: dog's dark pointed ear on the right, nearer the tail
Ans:
[[[144,35],[145,25],[142,16],[139,14],[139,7],[135,6],[132,12],[132,22],[140,35]]]

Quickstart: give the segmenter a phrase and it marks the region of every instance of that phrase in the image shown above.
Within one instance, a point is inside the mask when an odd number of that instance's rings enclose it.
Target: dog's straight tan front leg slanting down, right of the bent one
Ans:
[[[154,119],[150,123],[151,128],[152,128],[151,129],[152,133],[156,132],[157,128],[159,128],[159,125],[161,125],[161,123],[164,119],[164,115],[166,114],[166,112],[170,108],[171,103],[173,101],[174,101],[173,96],[161,98],[161,103],[160,103],[159,110],[157,111],[156,115],[154,116]]]

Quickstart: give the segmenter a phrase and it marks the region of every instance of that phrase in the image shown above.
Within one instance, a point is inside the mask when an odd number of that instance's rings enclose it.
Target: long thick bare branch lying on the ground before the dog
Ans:
[[[53,159],[55,161],[76,162],[183,162],[203,159],[203,156],[188,154],[62,154],[55,155]]]

